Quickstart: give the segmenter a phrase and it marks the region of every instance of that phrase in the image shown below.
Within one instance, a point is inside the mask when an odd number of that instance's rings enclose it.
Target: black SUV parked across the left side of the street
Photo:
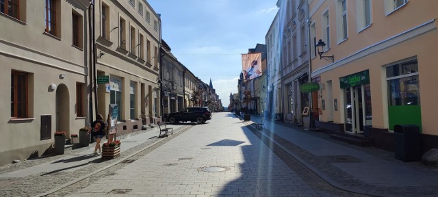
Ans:
[[[211,111],[207,107],[187,107],[179,112],[167,115],[167,120],[170,124],[177,122],[198,122],[202,124],[211,119]]]

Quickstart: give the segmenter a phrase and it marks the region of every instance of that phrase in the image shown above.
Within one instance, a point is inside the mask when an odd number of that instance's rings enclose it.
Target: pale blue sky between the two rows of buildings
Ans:
[[[173,55],[229,105],[242,55],[264,44],[277,0],[146,0],[162,16],[162,38]]]

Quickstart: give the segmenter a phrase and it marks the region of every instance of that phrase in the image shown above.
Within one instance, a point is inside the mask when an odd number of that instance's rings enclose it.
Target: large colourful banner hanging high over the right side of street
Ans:
[[[242,54],[244,81],[261,76],[261,53]]]

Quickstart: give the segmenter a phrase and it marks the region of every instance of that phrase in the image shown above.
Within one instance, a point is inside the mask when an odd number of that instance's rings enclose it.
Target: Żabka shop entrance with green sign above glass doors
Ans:
[[[369,70],[340,77],[339,84],[344,94],[344,131],[353,134],[369,131],[372,126]]]

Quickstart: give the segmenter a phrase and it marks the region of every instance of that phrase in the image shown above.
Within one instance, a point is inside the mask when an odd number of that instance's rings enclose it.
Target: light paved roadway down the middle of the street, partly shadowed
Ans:
[[[213,119],[71,196],[84,194],[96,184],[111,186],[98,194],[136,188],[155,188],[148,191],[153,196],[278,196],[282,191],[318,194],[248,131],[241,120],[226,114],[214,114]],[[211,166],[225,170],[203,171],[203,167]]]

